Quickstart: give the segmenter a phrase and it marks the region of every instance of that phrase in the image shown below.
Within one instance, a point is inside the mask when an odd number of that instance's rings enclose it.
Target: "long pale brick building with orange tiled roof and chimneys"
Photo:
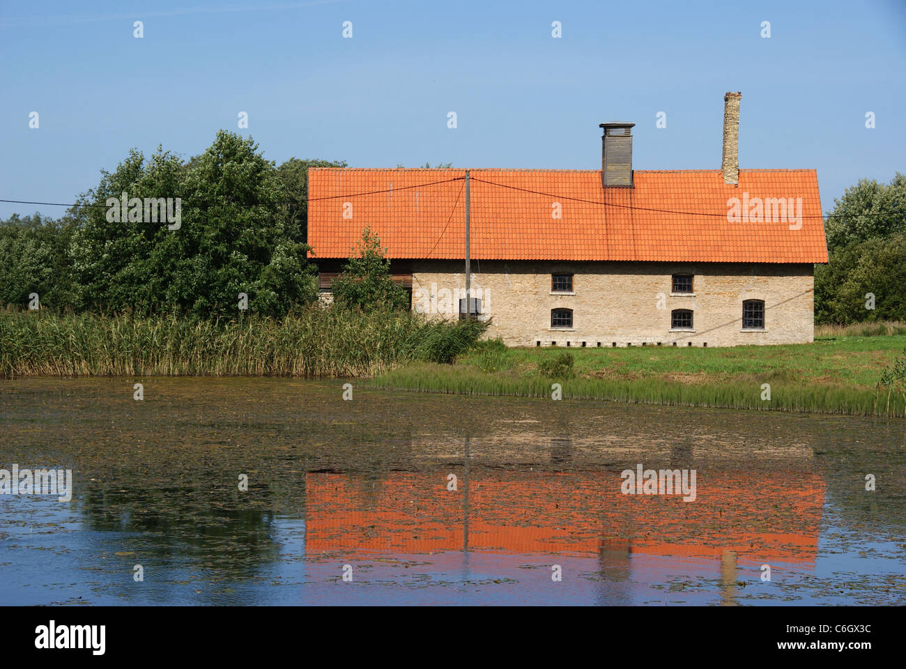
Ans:
[[[468,256],[473,312],[509,345],[812,342],[817,175],[739,170],[740,98],[720,170],[633,170],[622,122],[601,125],[601,170],[309,170],[321,289],[368,227],[431,316],[465,314]]]

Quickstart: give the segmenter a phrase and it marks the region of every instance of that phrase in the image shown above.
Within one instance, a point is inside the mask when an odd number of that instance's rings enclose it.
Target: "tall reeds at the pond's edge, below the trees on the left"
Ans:
[[[486,324],[318,306],[236,321],[0,311],[0,375],[371,376],[452,362]]]

